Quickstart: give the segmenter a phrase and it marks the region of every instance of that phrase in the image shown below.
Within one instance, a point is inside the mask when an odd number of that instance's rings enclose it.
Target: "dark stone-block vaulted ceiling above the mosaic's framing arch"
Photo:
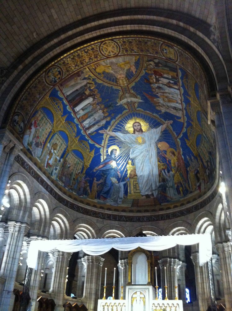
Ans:
[[[3,1],[1,4],[2,36],[0,67],[9,67],[22,53],[34,44],[50,36],[57,30],[77,23],[84,18],[96,14],[120,10],[121,14],[127,9],[144,8],[149,14],[150,9],[161,11],[167,16],[169,11],[188,14],[210,25],[216,22],[216,7],[213,0],[137,0],[137,1]],[[110,16],[110,15],[109,15]]]

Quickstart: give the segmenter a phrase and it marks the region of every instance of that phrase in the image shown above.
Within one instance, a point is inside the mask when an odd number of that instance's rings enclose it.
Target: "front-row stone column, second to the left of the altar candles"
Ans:
[[[49,291],[50,294],[54,295],[54,301],[56,304],[56,311],[64,311],[63,299],[66,287],[66,275],[68,262],[71,253],[65,253],[61,251],[55,251],[55,265],[52,274],[52,285]]]

